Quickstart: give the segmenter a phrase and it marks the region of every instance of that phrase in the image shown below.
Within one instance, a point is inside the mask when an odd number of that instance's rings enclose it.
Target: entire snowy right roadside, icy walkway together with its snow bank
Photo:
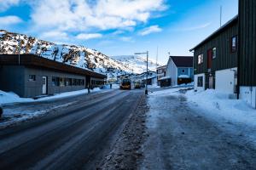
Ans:
[[[140,169],[255,167],[256,110],[243,101],[168,88],[149,94],[148,106]]]

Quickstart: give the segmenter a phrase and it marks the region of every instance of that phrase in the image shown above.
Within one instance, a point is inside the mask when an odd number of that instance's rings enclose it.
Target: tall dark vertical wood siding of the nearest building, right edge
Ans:
[[[256,1],[239,1],[239,84],[256,86]]]

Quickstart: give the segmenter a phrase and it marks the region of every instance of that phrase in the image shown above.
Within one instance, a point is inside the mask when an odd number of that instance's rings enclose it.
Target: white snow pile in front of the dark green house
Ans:
[[[229,94],[218,93],[212,89],[196,93],[189,90],[185,95],[190,102],[207,111],[209,116],[222,116],[231,122],[256,127],[256,110],[241,99],[229,99]]]

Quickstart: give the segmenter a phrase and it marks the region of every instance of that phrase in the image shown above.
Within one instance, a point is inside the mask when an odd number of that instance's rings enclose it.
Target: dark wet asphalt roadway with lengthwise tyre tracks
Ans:
[[[0,169],[96,169],[142,96],[140,90],[87,95],[40,119],[2,129]]]

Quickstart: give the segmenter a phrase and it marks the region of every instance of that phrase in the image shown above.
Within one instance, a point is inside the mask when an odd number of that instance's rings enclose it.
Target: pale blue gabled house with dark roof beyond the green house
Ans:
[[[166,67],[166,77],[160,80],[169,80],[171,86],[193,82],[193,57],[170,56]]]

